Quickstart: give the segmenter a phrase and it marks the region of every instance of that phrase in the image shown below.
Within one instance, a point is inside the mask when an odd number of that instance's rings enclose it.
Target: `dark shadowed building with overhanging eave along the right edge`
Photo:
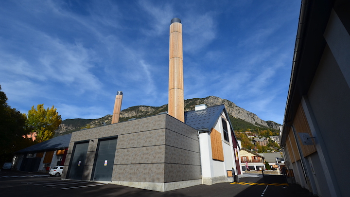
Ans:
[[[350,162],[349,10],[349,0],[303,0],[299,17],[280,144],[296,182],[319,197],[350,193],[340,165]]]

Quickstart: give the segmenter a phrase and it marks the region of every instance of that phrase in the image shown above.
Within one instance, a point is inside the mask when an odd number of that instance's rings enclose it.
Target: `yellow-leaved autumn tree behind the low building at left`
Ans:
[[[44,108],[44,104],[34,106],[28,111],[27,127],[30,134],[35,137],[35,142],[41,143],[53,138],[54,131],[61,124],[61,116],[56,108]]]

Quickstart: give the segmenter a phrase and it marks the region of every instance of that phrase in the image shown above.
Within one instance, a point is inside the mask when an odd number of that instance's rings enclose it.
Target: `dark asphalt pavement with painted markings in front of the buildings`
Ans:
[[[252,175],[237,183],[197,185],[156,192],[114,184],[67,181],[42,173],[0,171],[0,197],[309,197],[282,176]]]

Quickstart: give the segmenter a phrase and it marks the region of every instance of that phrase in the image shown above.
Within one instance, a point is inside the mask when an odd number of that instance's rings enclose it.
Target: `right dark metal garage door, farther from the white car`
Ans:
[[[117,139],[99,141],[98,152],[94,164],[93,180],[112,179],[114,155],[117,147]]]

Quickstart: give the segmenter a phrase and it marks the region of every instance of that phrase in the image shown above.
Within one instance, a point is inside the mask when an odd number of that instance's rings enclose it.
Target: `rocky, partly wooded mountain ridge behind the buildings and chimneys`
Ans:
[[[206,98],[193,98],[185,100],[185,111],[194,109],[194,106],[206,104],[207,106],[216,106],[224,104],[234,129],[261,127],[270,129],[279,129],[280,124],[273,121],[264,121],[256,114],[236,106],[231,101],[216,96],[208,96]],[[127,121],[131,118],[142,118],[146,116],[156,115],[160,112],[168,110],[168,104],[160,107],[151,106],[134,106],[121,111],[120,122]],[[56,136],[71,133],[83,128],[96,127],[101,125],[109,125],[112,122],[112,115],[106,115],[98,119],[66,119],[62,121],[56,130]]]

